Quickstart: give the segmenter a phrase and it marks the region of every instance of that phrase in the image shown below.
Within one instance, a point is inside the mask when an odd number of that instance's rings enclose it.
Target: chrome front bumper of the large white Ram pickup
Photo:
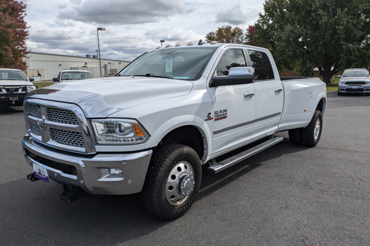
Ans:
[[[33,140],[28,134],[22,140],[23,155],[26,161],[47,169],[49,179],[79,186],[89,194],[124,195],[140,192],[143,188],[152,151],[132,154],[67,155],[53,151]],[[30,157],[30,155],[37,157]],[[37,160],[35,160],[37,159]],[[74,166],[74,175],[45,165],[45,161],[55,161]],[[43,162],[44,164],[42,164]],[[123,178],[105,179],[102,168],[121,169]]]

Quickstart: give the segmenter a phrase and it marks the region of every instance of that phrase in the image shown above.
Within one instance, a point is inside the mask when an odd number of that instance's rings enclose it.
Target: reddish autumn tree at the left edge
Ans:
[[[27,69],[23,62],[30,53],[26,47],[26,6],[22,1],[0,0],[0,68]]]

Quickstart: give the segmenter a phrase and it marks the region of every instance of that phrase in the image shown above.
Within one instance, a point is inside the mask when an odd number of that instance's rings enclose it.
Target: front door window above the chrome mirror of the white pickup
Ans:
[[[241,49],[226,50],[216,67],[217,76],[225,76],[229,74],[231,67],[247,66]]]

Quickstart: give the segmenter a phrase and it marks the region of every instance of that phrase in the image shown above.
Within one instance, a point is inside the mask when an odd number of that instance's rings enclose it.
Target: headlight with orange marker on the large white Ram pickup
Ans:
[[[97,144],[141,144],[149,134],[143,126],[130,119],[91,120]]]

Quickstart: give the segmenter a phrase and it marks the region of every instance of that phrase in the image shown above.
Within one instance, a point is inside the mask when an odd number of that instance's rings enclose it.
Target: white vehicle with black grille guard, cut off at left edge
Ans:
[[[0,68],[0,106],[21,106],[28,92],[37,89],[19,69]]]

